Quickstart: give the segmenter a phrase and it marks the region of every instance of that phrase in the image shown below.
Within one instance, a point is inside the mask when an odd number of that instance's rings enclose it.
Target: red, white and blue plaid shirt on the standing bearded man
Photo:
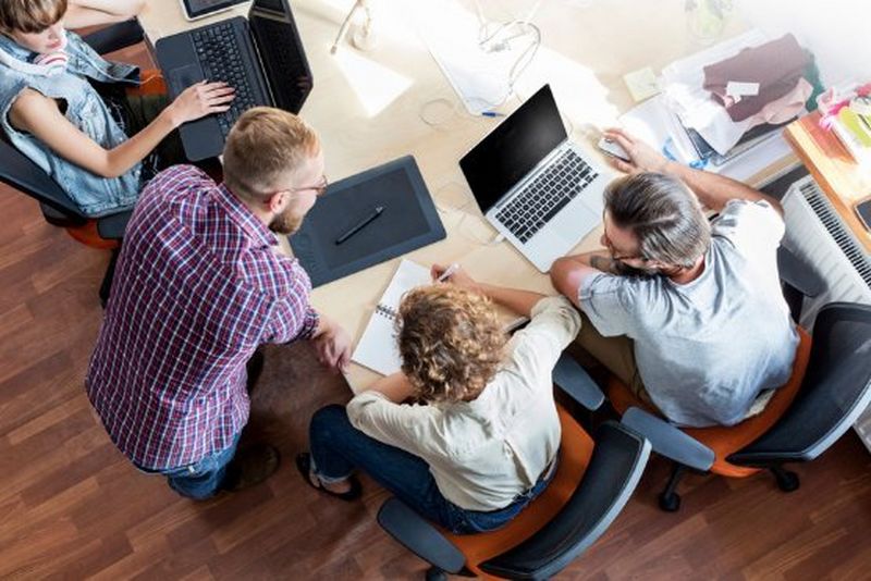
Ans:
[[[228,447],[248,419],[245,363],[262,343],[311,336],[299,264],[224,186],[160,173],[127,225],[88,397],[135,465],[177,468]]]

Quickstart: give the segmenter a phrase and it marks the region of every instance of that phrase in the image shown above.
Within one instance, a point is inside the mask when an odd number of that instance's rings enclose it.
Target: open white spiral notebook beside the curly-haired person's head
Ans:
[[[431,282],[429,269],[403,259],[369,318],[369,323],[351,358],[382,375],[398,371],[401,359],[394,327],[396,310],[405,293]]]

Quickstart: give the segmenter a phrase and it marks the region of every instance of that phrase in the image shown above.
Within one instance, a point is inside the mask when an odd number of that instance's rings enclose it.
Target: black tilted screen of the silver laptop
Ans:
[[[459,160],[475,199],[487,211],[567,138],[544,85]]]

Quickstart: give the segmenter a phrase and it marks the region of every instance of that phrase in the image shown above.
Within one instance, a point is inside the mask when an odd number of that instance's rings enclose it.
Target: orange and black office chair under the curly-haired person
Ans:
[[[587,409],[604,397],[589,375],[563,355],[553,381]],[[450,533],[392,497],[379,524],[432,567],[484,578],[545,579],[584,553],[608,529],[631,496],[650,455],[650,444],[616,422],[599,427],[596,441],[557,404],[562,440],[556,474],[537,498],[502,529],[470,535]]]

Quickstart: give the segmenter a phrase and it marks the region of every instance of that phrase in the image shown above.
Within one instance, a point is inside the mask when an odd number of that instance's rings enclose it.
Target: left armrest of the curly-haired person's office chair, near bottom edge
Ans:
[[[378,523],[405,548],[443,571],[456,573],[466,564],[456,545],[396,497],[381,505]]]

